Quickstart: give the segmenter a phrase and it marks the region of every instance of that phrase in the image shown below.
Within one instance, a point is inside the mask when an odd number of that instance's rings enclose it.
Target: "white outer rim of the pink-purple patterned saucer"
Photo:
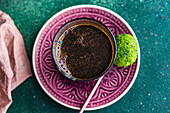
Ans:
[[[129,90],[130,88],[132,87],[133,83],[135,82],[136,80],[136,77],[137,77],[137,74],[138,74],[138,71],[139,71],[139,66],[140,66],[140,47],[139,47],[139,43],[138,43],[138,40],[137,40],[137,37],[134,33],[134,31],[132,30],[132,28],[130,27],[130,25],[121,17],[119,16],[117,13],[111,11],[110,9],[107,9],[107,8],[104,8],[104,7],[101,7],[101,6],[96,6],[96,5],[76,5],[76,6],[71,6],[71,7],[68,7],[66,9],[63,9],[59,12],[57,12],[55,15],[53,15],[50,19],[48,19],[48,21],[43,25],[43,27],[41,28],[41,30],[39,31],[37,37],[36,37],[36,40],[34,42],[34,46],[33,46],[33,51],[32,51],[32,64],[33,64],[33,70],[34,70],[34,74],[36,76],[36,79],[39,83],[39,85],[41,86],[41,88],[46,92],[46,94],[51,97],[54,101],[58,102],[59,104],[63,105],[63,106],[66,106],[68,108],[71,108],[71,109],[75,109],[75,110],[80,110],[79,107],[74,107],[74,106],[71,106],[71,105],[68,105],[68,104],[65,104],[59,100],[57,100],[55,97],[53,97],[47,90],[46,88],[43,86],[43,84],[41,83],[40,81],[40,78],[38,77],[38,74],[37,74],[37,71],[36,71],[36,66],[35,66],[35,51],[36,51],[36,46],[37,46],[37,42],[39,40],[39,37],[40,35],[42,34],[44,28],[54,19],[56,18],[58,15],[62,14],[63,12],[66,12],[68,10],[71,10],[71,9],[76,9],[76,8],[96,8],[96,9],[101,9],[101,10],[104,10],[106,12],[109,12],[111,14],[113,14],[114,16],[116,16],[117,18],[119,18],[127,27],[128,29],[130,30],[130,32],[132,33],[133,37],[136,39],[137,41],[137,44],[138,44],[138,58],[137,58],[137,66],[136,66],[136,71],[135,71],[135,74],[134,74],[134,77],[131,81],[131,83],[129,84],[129,86],[125,89],[125,91],[120,94],[120,96],[118,96],[116,99],[114,99],[113,101],[109,102],[109,103],[106,103],[104,105],[101,105],[101,106],[97,106],[97,107],[93,107],[93,108],[86,108],[85,110],[87,111],[90,111],[90,110],[97,110],[97,109],[101,109],[101,108],[105,108],[115,102],[117,102],[118,100],[120,100]]]

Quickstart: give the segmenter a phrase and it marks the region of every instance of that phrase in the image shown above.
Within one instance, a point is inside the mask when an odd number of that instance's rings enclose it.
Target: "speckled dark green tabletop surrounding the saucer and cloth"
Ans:
[[[170,112],[170,1],[168,0],[0,0],[24,37],[30,61],[42,25],[60,10],[80,4],[103,6],[122,16],[137,35],[141,66],[130,91],[109,107],[89,113]],[[28,92],[29,91],[29,92]],[[53,101],[35,75],[12,92],[8,113],[77,112]]]

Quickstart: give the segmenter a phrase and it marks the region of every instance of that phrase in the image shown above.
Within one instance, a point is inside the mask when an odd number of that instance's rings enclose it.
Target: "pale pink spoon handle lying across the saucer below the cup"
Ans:
[[[99,86],[102,78],[103,78],[103,76],[100,77],[100,78],[98,79],[98,81],[96,82],[95,86],[93,87],[90,95],[89,95],[88,98],[86,99],[86,101],[85,101],[83,107],[80,109],[79,113],[83,113],[83,111],[85,110],[85,108],[86,108],[86,106],[88,105],[89,101],[91,100],[93,94],[95,93],[96,89],[98,88],[98,86]]]

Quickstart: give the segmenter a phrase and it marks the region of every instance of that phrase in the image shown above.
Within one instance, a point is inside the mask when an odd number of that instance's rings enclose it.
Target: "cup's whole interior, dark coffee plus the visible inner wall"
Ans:
[[[103,24],[91,19],[66,24],[54,42],[55,62],[59,70],[73,80],[99,78],[109,70],[115,58],[113,35]]]

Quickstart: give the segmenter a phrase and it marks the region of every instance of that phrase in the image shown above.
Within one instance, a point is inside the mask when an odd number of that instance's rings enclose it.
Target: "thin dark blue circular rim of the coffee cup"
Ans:
[[[100,75],[100,76],[96,76],[96,77],[93,77],[93,78],[91,78],[91,79],[77,79],[77,78],[75,78],[75,77],[71,77],[71,76],[69,76],[68,74],[66,74],[64,71],[62,71],[62,69],[60,69],[60,67],[58,66],[58,64],[57,64],[57,61],[55,60],[55,56],[54,56],[54,43],[55,43],[55,39],[56,39],[56,37],[57,37],[57,35],[58,35],[58,33],[62,30],[62,28],[64,28],[66,25],[68,25],[69,23],[71,23],[71,22],[74,22],[74,21],[77,21],[77,20],[90,20],[90,21],[94,21],[94,22],[97,22],[97,23],[99,23],[100,25],[102,25],[104,28],[106,28],[106,30],[110,33],[110,35],[111,35],[111,38],[112,38],[112,40],[113,40],[113,46],[114,46],[114,55],[113,55],[113,60],[110,62],[111,64],[109,64],[110,66],[108,66],[108,68]],[[74,81],[93,81],[93,80],[97,80],[97,79],[99,79],[100,77],[102,77],[102,76],[104,76],[110,69],[111,69],[111,67],[113,66],[113,64],[114,64],[114,62],[115,62],[115,59],[116,59],[116,55],[117,55],[117,44],[116,44],[116,39],[115,39],[115,37],[114,37],[114,35],[113,35],[113,33],[111,32],[111,30],[105,25],[105,24],[103,24],[102,22],[100,22],[100,21],[98,21],[98,20],[95,20],[95,19],[92,19],[92,18],[86,18],[86,17],[83,17],[83,18],[76,18],[76,19],[73,19],[73,20],[71,20],[71,21],[68,21],[68,22],[66,22],[64,25],[62,25],[59,29],[58,29],[58,31],[55,33],[55,36],[54,36],[54,38],[53,38],[53,41],[52,41],[52,57],[53,57],[53,60],[54,60],[54,62],[55,62],[55,64],[56,64],[56,67],[57,67],[57,69],[65,76],[65,77],[67,77],[67,78],[69,78],[69,79],[71,79],[71,80],[74,80]]]

